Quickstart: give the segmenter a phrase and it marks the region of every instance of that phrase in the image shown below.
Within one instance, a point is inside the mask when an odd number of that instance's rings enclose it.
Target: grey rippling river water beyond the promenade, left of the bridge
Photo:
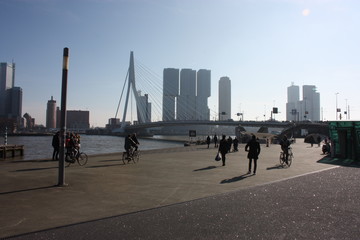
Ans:
[[[161,138],[160,138],[161,139]],[[17,160],[52,158],[52,136],[9,136],[7,143],[24,145],[24,156]],[[181,147],[184,143],[139,139],[140,150]],[[116,136],[81,135],[81,151],[88,155],[124,151],[124,138]]]

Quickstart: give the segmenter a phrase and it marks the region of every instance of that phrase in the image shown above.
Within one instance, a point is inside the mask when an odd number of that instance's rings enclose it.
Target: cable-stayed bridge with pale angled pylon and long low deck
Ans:
[[[135,72],[136,71],[136,72]],[[136,77],[135,77],[136,76]],[[144,93],[144,94],[143,94]],[[125,94],[125,96],[124,96]],[[216,120],[217,113],[210,112],[210,118],[214,120],[167,120],[169,117],[163,116],[167,111],[162,109],[163,83],[162,76],[158,76],[150,69],[146,68],[140,62],[134,63],[134,53],[130,52],[130,63],[124,86],[121,92],[120,100],[116,110],[115,118],[122,110],[122,118],[120,119],[119,127],[113,129],[113,133],[130,133],[146,131],[150,128],[168,127],[168,126],[194,126],[194,125],[217,125],[217,126],[234,126],[234,127],[268,127],[283,129],[286,131],[293,131],[296,129],[322,129],[326,132],[328,125],[326,123],[312,123],[312,122],[278,122],[278,121],[236,121]],[[124,99],[123,99],[124,97]],[[179,106],[178,106],[179,107]],[[181,108],[187,108],[194,112],[195,115],[199,112],[196,107],[190,104],[184,104]],[[135,109],[135,110],[134,110]],[[135,111],[135,114],[134,114]],[[131,119],[126,121],[126,119]],[[137,121],[133,121],[137,119]],[[131,123],[133,122],[133,123]]]

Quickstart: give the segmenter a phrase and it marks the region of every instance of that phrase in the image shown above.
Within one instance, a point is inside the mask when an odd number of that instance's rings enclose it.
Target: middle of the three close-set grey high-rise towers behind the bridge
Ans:
[[[181,69],[180,94],[177,98],[177,120],[196,119],[196,71]]]

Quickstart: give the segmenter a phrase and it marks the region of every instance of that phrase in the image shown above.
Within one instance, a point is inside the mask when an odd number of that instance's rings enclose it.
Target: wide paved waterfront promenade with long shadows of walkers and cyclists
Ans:
[[[200,145],[143,152],[138,164],[123,165],[120,154],[90,156],[86,166],[66,168],[66,187],[55,186],[57,162],[1,161],[0,238],[325,239],[317,234],[335,226],[339,235],[327,239],[359,236],[360,192],[349,184],[358,168],[329,164],[299,139],[284,169],[278,145],[261,147],[255,176],[246,174],[244,145],[224,167],[213,145]]]

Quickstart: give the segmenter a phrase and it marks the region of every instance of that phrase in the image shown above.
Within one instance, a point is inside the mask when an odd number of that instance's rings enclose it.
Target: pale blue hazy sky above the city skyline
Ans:
[[[67,109],[89,110],[91,126],[114,117],[130,51],[160,85],[164,68],[210,69],[212,119],[222,76],[234,119],[264,120],[276,106],[285,120],[292,82],[317,86],[324,120],[336,93],[360,119],[359,12],[358,0],[0,0],[0,62],[16,63],[23,114],[37,124],[51,96],[60,105],[64,47]]]

